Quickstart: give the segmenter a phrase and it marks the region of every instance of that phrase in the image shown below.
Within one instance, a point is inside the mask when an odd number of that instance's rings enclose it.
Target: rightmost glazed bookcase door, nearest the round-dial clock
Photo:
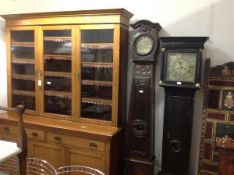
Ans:
[[[116,125],[118,37],[114,25],[80,27],[78,82],[80,120]],[[116,38],[115,38],[116,37]]]

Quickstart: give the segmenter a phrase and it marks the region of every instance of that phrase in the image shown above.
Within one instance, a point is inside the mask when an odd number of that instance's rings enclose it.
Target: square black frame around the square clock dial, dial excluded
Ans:
[[[194,74],[194,81],[171,81],[167,80],[167,72],[168,72],[168,54],[169,53],[193,53],[196,55],[196,64],[195,64],[195,74]],[[200,75],[201,75],[201,64],[202,64],[202,54],[197,49],[168,49],[163,52],[162,55],[162,74],[161,74],[161,84],[170,85],[170,86],[177,86],[177,87],[197,87],[200,88]]]

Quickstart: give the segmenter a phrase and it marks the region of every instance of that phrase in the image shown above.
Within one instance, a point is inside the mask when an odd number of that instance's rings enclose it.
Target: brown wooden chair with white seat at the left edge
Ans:
[[[24,105],[16,108],[7,108],[0,106],[0,110],[15,112],[18,116],[18,136],[17,141],[6,141],[0,139],[0,162],[4,162],[13,156],[18,156],[19,171],[21,175],[26,175],[26,157],[27,157],[27,137],[23,124]],[[15,168],[15,167],[12,167]]]

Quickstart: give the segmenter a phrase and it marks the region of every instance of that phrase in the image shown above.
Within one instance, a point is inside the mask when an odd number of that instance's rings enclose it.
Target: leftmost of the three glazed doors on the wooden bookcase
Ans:
[[[7,30],[8,105],[25,104],[26,113],[38,114],[38,27]]]

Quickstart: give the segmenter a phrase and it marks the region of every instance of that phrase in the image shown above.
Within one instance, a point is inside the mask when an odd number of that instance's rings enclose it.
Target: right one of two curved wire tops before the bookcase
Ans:
[[[63,166],[57,169],[57,175],[105,175],[103,172],[81,165]]]

